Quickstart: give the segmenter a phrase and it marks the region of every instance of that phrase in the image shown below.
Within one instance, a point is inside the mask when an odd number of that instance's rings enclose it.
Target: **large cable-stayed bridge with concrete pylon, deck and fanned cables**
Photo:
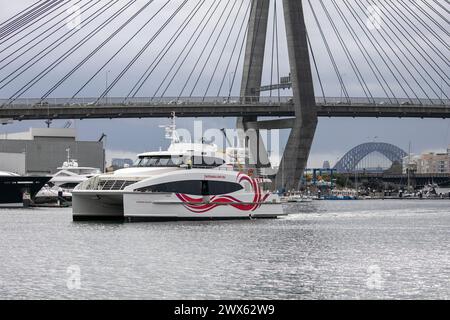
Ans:
[[[280,169],[291,179],[277,184],[292,188],[318,117],[448,117],[449,9],[445,0],[40,0],[0,22],[0,118],[175,111],[291,128]],[[264,145],[247,143],[259,159]]]

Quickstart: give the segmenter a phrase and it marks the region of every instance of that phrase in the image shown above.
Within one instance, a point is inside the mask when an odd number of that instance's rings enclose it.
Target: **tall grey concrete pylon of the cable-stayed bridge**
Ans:
[[[270,0],[252,0],[241,84],[242,99],[259,99],[269,7]],[[302,1],[283,0],[283,7],[295,118],[292,121],[292,131],[275,179],[275,185],[277,188],[296,189],[306,167],[314,139],[317,111]],[[246,131],[251,128],[250,124],[255,122],[257,122],[257,117],[238,118],[237,128]],[[250,159],[257,166],[270,164],[259,132],[253,136],[256,139],[247,139],[248,137],[241,136],[241,145],[249,151]]]

